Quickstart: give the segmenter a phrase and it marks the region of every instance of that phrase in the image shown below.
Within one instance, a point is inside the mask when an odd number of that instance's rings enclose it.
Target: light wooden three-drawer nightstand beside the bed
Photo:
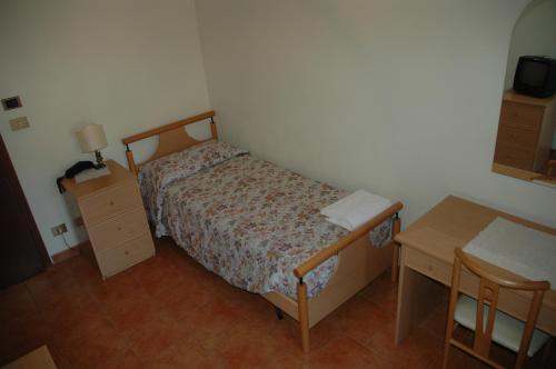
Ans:
[[[105,279],[155,255],[136,177],[113,160],[106,164],[109,176],[62,181],[78,203]]]

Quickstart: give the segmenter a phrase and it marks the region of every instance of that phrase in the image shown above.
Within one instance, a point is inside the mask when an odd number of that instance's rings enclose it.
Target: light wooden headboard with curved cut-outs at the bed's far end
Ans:
[[[142,163],[149,162],[151,160],[158,159],[158,158],[167,156],[169,153],[181,151],[181,150],[187,149],[193,144],[205,142],[205,141],[198,141],[198,140],[193,139],[191,136],[189,136],[187,133],[187,131],[183,129],[183,127],[187,124],[191,124],[191,123],[195,123],[195,122],[198,122],[201,120],[210,119],[211,139],[217,140],[218,132],[216,130],[216,123],[215,123],[214,117],[215,117],[215,111],[210,110],[210,111],[203,112],[203,113],[195,116],[195,117],[186,118],[183,120],[180,120],[180,121],[177,121],[173,123],[160,126],[160,127],[150,129],[148,131],[123,138],[121,140],[121,142],[123,142],[123,144],[126,144],[126,157],[128,159],[129,170],[131,170],[131,172],[133,174],[137,174],[138,164],[136,163],[136,161],[133,159],[133,151],[131,151],[129,149],[130,143],[133,143],[133,142],[137,142],[140,140],[145,140],[145,139],[153,137],[153,136],[158,136],[157,150],[149,159],[147,159]]]

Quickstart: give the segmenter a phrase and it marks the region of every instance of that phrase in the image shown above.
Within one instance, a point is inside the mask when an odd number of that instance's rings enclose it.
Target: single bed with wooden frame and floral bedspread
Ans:
[[[396,280],[401,203],[354,231],[319,210],[347,192],[218,142],[209,111],[125,138],[157,237],[170,236],[192,258],[231,285],[260,293],[309,329],[391,267]],[[211,139],[185,126],[210,120]],[[137,164],[129,144],[159,137],[155,154]],[[391,238],[390,238],[391,236]]]

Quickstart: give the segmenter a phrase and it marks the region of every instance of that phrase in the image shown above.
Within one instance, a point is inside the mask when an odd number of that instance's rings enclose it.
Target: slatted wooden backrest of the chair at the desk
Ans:
[[[446,327],[446,349],[449,348],[449,343],[455,345],[464,351],[467,351],[474,357],[480,359],[481,361],[490,366],[498,367],[494,361],[489,359],[489,352],[493,340],[493,329],[496,317],[496,308],[498,306],[498,293],[500,291],[500,287],[514,290],[530,291],[533,293],[533,299],[529,306],[529,311],[527,313],[527,320],[525,321],[525,329],[522,336],[522,341],[519,343],[519,350],[517,352],[517,360],[515,365],[516,368],[520,368],[527,357],[527,350],[529,348],[530,339],[535,330],[535,325],[540,311],[540,306],[543,305],[544,293],[550,288],[550,283],[547,281],[524,281],[510,279],[508,277],[496,273],[494,268],[488,268],[488,266],[477,262],[474,258],[467,256],[461,248],[457,248],[455,250],[455,253],[456,258],[454,260],[454,270],[451,276],[448,325]],[[463,346],[463,343],[457,342],[451,338],[454,329],[454,316],[456,312],[456,305],[459,293],[461,265],[465,266],[469,271],[475,273],[477,277],[479,277],[475,338],[473,348]],[[488,303],[490,306],[486,325],[484,323],[485,303]],[[446,357],[447,352],[445,352],[445,365]]]

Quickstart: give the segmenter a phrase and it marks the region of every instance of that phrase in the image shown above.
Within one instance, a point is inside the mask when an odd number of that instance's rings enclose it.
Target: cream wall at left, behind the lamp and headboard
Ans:
[[[209,108],[192,0],[2,0],[0,97],[23,108],[0,112],[0,133],[50,255],[50,228],[71,227],[54,180],[80,153],[73,132],[105,124],[105,157],[125,164],[122,137]],[[12,132],[8,120],[31,127]]]

